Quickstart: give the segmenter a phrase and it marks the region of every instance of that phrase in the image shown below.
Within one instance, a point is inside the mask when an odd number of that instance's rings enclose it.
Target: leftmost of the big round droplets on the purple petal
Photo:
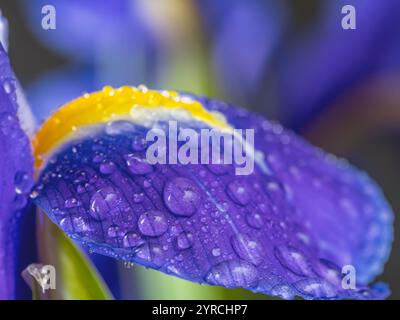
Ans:
[[[104,220],[120,202],[121,197],[113,188],[100,189],[90,199],[90,215],[96,220]]]

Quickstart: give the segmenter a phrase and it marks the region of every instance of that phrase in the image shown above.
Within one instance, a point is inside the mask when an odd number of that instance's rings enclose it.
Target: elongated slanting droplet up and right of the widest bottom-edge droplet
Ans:
[[[306,276],[312,273],[307,258],[300,250],[282,245],[275,247],[274,252],[280,264],[294,274]]]

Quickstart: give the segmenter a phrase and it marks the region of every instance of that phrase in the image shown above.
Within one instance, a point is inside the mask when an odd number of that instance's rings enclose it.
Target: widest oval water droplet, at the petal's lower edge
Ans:
[[[206,282],[226,288],[252,287],[257,284],[257,269],[242,260],[228,260],[214,266],[206,275]]]

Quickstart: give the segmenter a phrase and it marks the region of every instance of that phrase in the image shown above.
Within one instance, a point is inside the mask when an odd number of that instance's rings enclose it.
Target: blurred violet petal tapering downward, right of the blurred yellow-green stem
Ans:
[[[220,85],[231,97],[254,97],[282,34],[282,1],[202,1],[212,26],[213,60]]]

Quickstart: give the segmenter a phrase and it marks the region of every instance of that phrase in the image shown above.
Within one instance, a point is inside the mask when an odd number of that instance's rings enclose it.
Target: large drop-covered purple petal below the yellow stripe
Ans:
[[[200,101],[236,128],[256,130],[267,170],[260,165],[237,176],[234,165],[150,165],[147,146],[138,146],[148,129],[132,124],[127,131],[123,123],[123,132],[99,127],[64,146],[41,175],[37,204],[90,250],[183,279],[284,298],[387,296],[384,286],[363,287],[391,244],[392,213],[378,188],[278,125]],[[341,198],[355,207],[357,220],[338,205]],[[378,237],[366,235],[373,225],[381,228]],[[378,245],[383,254],[371,256]],[[355,290],[341,286],[344,263],[364,277]]]

